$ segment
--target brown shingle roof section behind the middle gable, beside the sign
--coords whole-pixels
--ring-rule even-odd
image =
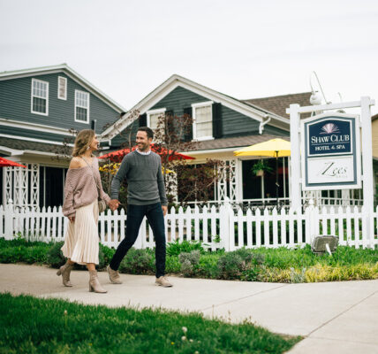
[[[289,108],[291,104],[299,104],[301,106],[310,105],[310,96],[311,92],[303,92],[301,94],[252,98],[240,101],[245,104],[257,105],[281,117],[290,118],[289,114],[286,114],[286,108]],[[303,117],[305,117],[305,115],[303,115]]]

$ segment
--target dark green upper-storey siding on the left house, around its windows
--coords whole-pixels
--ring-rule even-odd
[[[67,78],[67,100],[57,98],[57,77]],[[49,82],[49,115],[42,116],[31,112],[32,79]],[[91,127],[96,119],[96,133],[101,133],[107,123],[114,122],[119,114],[101,99],[89,94],[89,123],[74,121],[75,89],[87,92],[78,82],[64,73],[49,73],[19,79],[0,81],[0,118],[27,121],[44,126],[73,128],[76,130]]]

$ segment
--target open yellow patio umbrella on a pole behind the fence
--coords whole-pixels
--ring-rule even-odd
[[[235,156],[268,156],[276,158],[276,198],[278,204],[278,158],[291,155],[291,144],[283,139],[270,139],[234,151]],[[262,187],[261,187],[262,189]]]

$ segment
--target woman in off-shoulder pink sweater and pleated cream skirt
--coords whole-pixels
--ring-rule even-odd
[[[102,190],[97,158],[99,141],[93,130],[81,130],[76,137],[72,160],[64,186],[64,216],[70,219],[62,251],[67,262],[57,271],[65,287],[72,287],[70,273],[75,263],[89,271],[89,291],[106,293],[97,277],[98,199],[109,205],[110,197]]]

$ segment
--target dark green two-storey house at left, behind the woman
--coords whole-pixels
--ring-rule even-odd
[[[124,112],[66,64],[0,73],[0,156],[26,165],[0,168],[0,204],[63,204],[72,131],[100,135]]]

